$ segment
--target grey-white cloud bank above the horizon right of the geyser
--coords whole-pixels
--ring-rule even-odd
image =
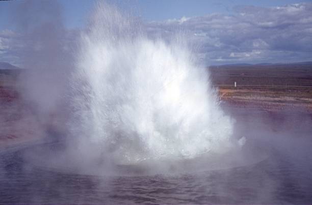
[[[311,13],[311,3],[272,8],[245,6],[237,8],[234,15],[211,14],[147,26],[150,31],[166,33],[165,37],[174,35],[177,28],[189,34],[190,42],[200,48],[199,53],[205,53],[207,63],[312,61]]]

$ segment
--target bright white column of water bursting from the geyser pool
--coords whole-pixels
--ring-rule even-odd
[[[98,4],[71,79],[71,135],[86,159],[194,158],[232,147],[232,121],[186,46]]]

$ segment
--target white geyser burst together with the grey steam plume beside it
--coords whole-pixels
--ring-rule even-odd
[[[72,35],[57,4],[18,9],[29,47],[21,55],[29,70],[20,80],[23,99],[43,131],[54,123],[51,130],[60,132],[50,137],[66,139],[64,153],[56,160],[41,155],[43,161],[78,169],[171,163],[245,143],[232,137],[234,121],[178,32],[166,42],[151,38],[136,18],[99,3],[87,28],[68,43]]]

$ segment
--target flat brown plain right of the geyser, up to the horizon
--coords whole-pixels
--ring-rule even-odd
[[[310,64],[219,66],[210,71],[220,99],[232,106],[312,113]]]

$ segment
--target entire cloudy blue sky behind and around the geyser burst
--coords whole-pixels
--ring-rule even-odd
[[[312,1],[109,2],[137,16],[150,34],[183,31],[206,65],[312,61]],[[0,62],[21,65],[32,24],[57,22],[66,32],[62,42],[70,41],[84,29],[94,1],[37,4],[0,2]]]

